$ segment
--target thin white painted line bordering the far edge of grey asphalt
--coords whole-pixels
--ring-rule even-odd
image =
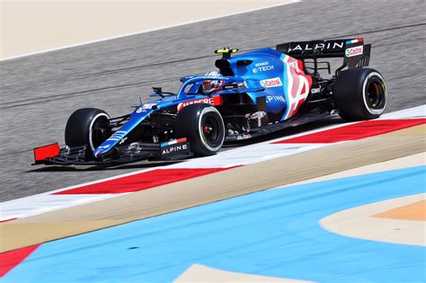
[[[58,50],[61,50],[61,49],[71,49],[71,48],[75,48],[75,47],[78,47],[78,46],[83,46],[83,45],[87,45],[87,44],[91,44],[91,43],[102,42],[102,41],[106,41],[106,40],[116,40],[116,39],[120,39],[120,38],[124,38],[124,37],[128,37],[128,36],[133,36],[133,35],[138,35],[138,34],[142,34],[142,33],[146,33],[146,32],[151,32],[151,31],[161,31],[161,30],[165,30],[165,29],[179,27],[179,26],[186,25],[186,24],[197,23],[197,22],[205,22],[205,21],[220,19],[220,18],[229,17],[229,16],[233,16],[233,15],[236,15],[236,14],[241,14],[241,13],[251,13],[251,12],[261,11],[261,10],[264,10],[264,9],[270,9],[270,8],[282,6],[282,5],[285,5],[285,4],[298,3],[300,1],[301,0],[285,0],[284,2],[282,2],[280,4],[271,4],[271,5],[262,7],[262,8],[244,10],[242,12],[236,12],[236,13],[227,13],[227,14],[224,14],[224,15],[215,16],[215,17],[208,17],[208,18],[204,18],[204,19],[201,19],[201,20],[197,20],[197,21],[182,22],[182,23],[173,24],[173,25],[167,25],[167,26],[164,26],[164,27],[150,29],[150,30],[146,30],[146,31],[137,31],[137,32],[131,32],[131,33],[126,33],[126,34],[121,34],[121,35],[117,35],[117,36],[113,36],[113,37],[103,38],[103,39],[100,39],[100,40],[90,40],[90,41],[85,41],[85,42],[81,42],[81,43],[76,43],[76,44],[71,44],[71,45],[63,46],[63,47],[56,48],[56,49],[45,49],[45,50],[41,50],[41,51],[37,51],[37,52],[31,52],[31,53],[26,53],[26,54],[22,54],[22,55],[18,55],[18,56],[5,57],[5,58],[1,58],[0,62],[1,61],[5,61],[5,60],[16,59],[16,58],[20,58],[20,57],[28,57],[28,56],[32,56],[32,55],[38,55],[38,54],[47,53],[47,52],[51,52],[51,51],[58,51]]]

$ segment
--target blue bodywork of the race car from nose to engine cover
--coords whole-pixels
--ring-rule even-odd
[[[177,106],[180,103],[191,102],[217,96],[233,95],[235,93],[246,93],[256,104],[257,98],[265,97],[268,113],[278,114],[279,119],[272,122],[283,121],[289,118],[291,106],[291,93],[288,84],[293,82],[295,77],[291,69],[297,65],[288,64],[289,59],[297,61],[292,57],[276,51],[275,49],[259,49],[247,52],[234,57],[222,58],[219,63],[225,66],[218,66],[221,75],[196,75],[182,78],[182,86],[176,95],[165,96],[161,99],[146,102],[138,106],[133,111],[129,120],[112,134],[101,146],[94,150],[96,157],[108,153],[111,148],[117,146],[133,128],[136,128],[142,121],[146,120],[153,112]],[[299,62],[299,61],[297,61]],[[300,74],[300,76],[306,76]],[[209,95],[197,93],[200,85],[205,80],[217,80],[224,84],[237,84],[234,89],[225,89]],[[291,81],[291,82],[289,82]],[[306,87],[306,95],[310,88],[310,81]],[[155,93],[154,93],[155,94]],[[282,115],[280,115],[280,113]]]

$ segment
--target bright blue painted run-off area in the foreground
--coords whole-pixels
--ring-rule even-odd
[[[424,181],[421,166],[226,199],[45,243],[3,281],[167,282],[200,263],[322,282],[423,282],[424,247],[332,234],[318,221],[422,193]]]

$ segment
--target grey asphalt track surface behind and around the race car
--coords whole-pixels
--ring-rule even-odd
[[[151,166],[37,169],[31,149],[63,145],[67,118],[78,108],[122,115],[139,96],[146,101],[151,86],[176,90],[180,76],[214,70],[213,50],[221,47],[244,51],[291,40],[364,37],[373,44],[370,66],[387,81],[387,111],[425,104],[424,6],[423,0],[303,1],[2,61],[0,201]]]

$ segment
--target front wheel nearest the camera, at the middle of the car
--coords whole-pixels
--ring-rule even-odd
[[[197,156],[215,155],[225,140],[225,125],[219,111],[210,104],[186,106],[174,125],[177,138],[186,137]]]

